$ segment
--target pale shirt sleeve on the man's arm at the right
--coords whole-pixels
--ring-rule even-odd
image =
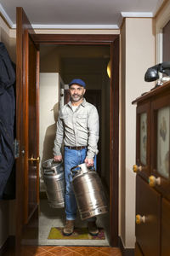
[[[87,158],[94,159],[98,154],[99,141],[99,114],[97,108],[92,108],[88,113],[88,153]]]

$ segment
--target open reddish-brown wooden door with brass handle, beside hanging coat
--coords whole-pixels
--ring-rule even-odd
[[[39,51],[30,21],[16,9],[16,255],[20,255],[23,230],[38,208],[39,192]]]

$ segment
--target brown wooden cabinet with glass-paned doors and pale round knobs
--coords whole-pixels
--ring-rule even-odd
[[[170,83],[137,103],[135,256],[170,256]]]

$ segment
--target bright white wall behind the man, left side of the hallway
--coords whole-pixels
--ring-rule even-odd
[[[40,73],[40,170],[42,162],[54,157],[54,137],[59,112],[60,83],[59,73]],[[40,177],[41,177],[40,172]],[[40,179],[40,189],[43,181]]]

